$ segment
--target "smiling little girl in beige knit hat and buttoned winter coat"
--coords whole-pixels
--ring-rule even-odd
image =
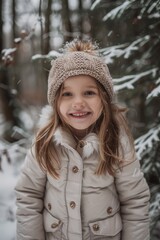
[[[17,194],[17,240],[149,240],[149,189],[96,46],[52,63]]]

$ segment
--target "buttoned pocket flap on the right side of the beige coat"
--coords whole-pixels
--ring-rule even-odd
[[[122,220],[119,213],[104,220],[92,222],[89,227],[94,235],[115,236],[122,230]]]

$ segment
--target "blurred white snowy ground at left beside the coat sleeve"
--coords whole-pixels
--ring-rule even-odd
[[[26,150],[0,142],[0,239],[15,240],[16,205],[14,188]]]

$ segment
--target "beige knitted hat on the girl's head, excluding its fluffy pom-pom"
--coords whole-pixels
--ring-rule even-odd
[[[113,98],[113,83],[107,65],[101,57],[85,51],[64,53],[52,61],[48,77],[48,102],[52,106],[61,84],[71,76],[89,75],[100,82],[106,90],[110,101]]]

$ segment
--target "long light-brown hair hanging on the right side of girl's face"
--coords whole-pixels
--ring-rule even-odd
[[[122,143],[122,138],[125,137],[125,142],[129,144],[131,158],[135,154],[134,141],[125,117],[127,108],[111,103],[103,86],[98,82],[97,85],[103,110],[94,127],[100,141],[100,160],[96,173],[105,174],[108,171],[114,176],[116,169],[123,165],[126,160],[124,158],[127,149],[124,149],[126,146]]]

